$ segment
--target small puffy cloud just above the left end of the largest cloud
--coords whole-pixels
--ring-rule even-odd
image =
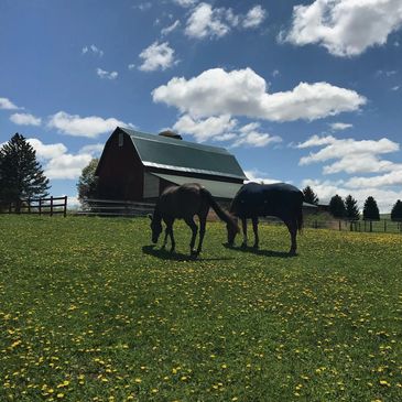
[[[169,46],[167,42],[154,42],[140,53],[143,63],[139,67],[143,72],[154,72],[156,69],[166,69],[174,65],[174,50]]]

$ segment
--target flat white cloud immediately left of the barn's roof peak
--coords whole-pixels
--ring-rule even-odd
[[[59,132],[75,137],[95,138],[106,132],[111,132],[116,127],[133,127],[131,123],[115,118],[102,119],[97,116],[80,117],[58,111],[50,117],[47,127]]]

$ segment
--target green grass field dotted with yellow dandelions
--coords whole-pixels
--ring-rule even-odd
[[[0,401],[402,401],[401,235],[175,235],[0,216]]]

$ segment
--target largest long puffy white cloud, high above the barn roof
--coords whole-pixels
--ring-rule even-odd
[[[265,80],[251,68],[205,70],[174,77],[152,91],[153,101],[177,107],[193,117],[247,116],[272,121],[315,120],[358,110],[366,98],[327,83],[300,83],[294,89],[269,94]]]

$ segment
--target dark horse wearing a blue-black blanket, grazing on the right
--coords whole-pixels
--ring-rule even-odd
[[[254,248],[259,246],[258,237],[258,217],[275,216],[284,221],[291,233],[291,254],[296,253],[296,235],[297,229],[303,227],[303,193],[285,183],[275,184],[245,184],[236,194],[231,205],[230,214],[241,219],[243,242],[247,247],[247,219],[252,220],[254,232]],[[236,232],[228,229],[228,243],[233,245]]]

